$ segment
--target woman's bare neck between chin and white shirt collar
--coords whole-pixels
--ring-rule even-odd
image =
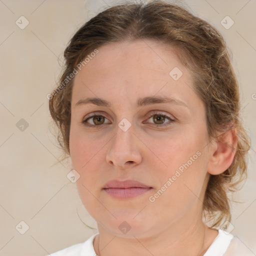
[[[182,225],[180,225],[182,223]],[[99,235],[93,246],[98,256],[201,256],[217,236],[217,230],[210,229],[201,220],[189,223],[180,219],[161,232],[153,235],[131,235],[129,238],[111,234],[98,224]]]

